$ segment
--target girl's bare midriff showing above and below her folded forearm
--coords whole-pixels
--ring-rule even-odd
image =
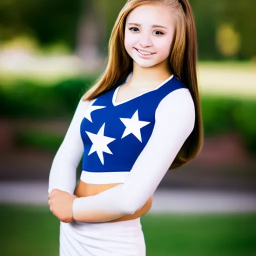
[[[121,184],[121,183],[89,184],[89,183],[85,183],[85,182],[79,180],[79,183],[75,189],[74,194],[78,197],[86,197],[86,196],[98,194],[104,190],[107,190],[107,189],[112,188],[119,184]],[[133,214],[124,215],[120,218],[110,220],[108,222],[123,221],[123,220],[141,217],[142,215],[144,215],[145,213],[147,213],[149,211],[151,205],[152,205],[152,196],[150,196],[148,198],[148,200],[145,202],[145,204],[140,209],[135,211]]]

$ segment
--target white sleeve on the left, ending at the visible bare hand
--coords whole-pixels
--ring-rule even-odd
[[[48,193],[54,188],[70,194],[74,193],[76,168],[83,154],[80,123],[89,102],[79,100],[64,139],[53,158],[49,173]]]

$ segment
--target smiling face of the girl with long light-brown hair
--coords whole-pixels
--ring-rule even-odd
[[[137,65],[151,67],[168,58],[174,31],[168,7],[140,5],[126,18],[124,47]]]

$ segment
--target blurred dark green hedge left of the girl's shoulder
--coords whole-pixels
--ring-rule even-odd
[[[18,80],[12,86],[0,84],[0,116],[48,118],[70,116],[92,77],[70,78],[56,85]]]

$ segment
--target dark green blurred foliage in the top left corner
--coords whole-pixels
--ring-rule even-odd
[[[19,34],[34,36],[41,45],[75,45],[82,0],[1,0],[0,41]]]

